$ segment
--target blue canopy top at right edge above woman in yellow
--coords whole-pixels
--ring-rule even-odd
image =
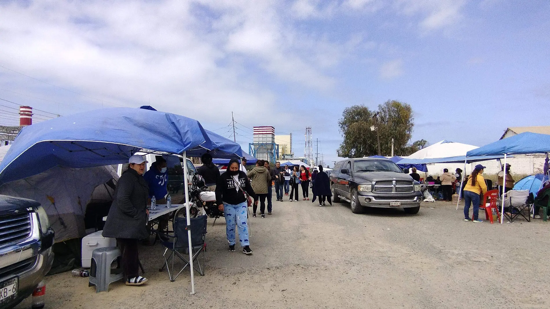
[[[497,154],[529,154],[550,152],[550,135],[524,132],[470,150],[466,157],[494,156]]]

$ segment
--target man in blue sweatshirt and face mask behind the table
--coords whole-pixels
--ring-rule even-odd
[[[166,168],[166,159],[163,157],[157,157],[157,160],[153,162],[151,168],[145,172],[143,175],[145,182],[149,185],[149,202],[151,202],[151,197],[155,196],[158,204],[166,204],[166,196],[168,195],[168,172]],[[168,227],[168,220],[170,219],[170,214],[164,214],[163,216],[158,217],[158,233],[163,233],[163,231]]]

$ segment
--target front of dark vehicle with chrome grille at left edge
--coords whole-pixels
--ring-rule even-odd
[[[53,230],[40,203],[0,195],[0,308],[32,294],[53,262]]]

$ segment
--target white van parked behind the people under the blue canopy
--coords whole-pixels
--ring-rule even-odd
[[[172,203],[179,204],[183,202],[185,196],[184,190],[184,180],[183,180],[183,157],[178,154],[167,154],[167,153],[145,153],[145,152],[136,152],[140,156],[145,156],[147,160],[145,166],[145,172],[151,168],[153,162],[157,161],[157,157],[163,157],[166,160],[166,167],[168,172],[168,194],[172,196]],[[124,170],[128,169],[128,163],[118,164],[117,174],[120,176]],[[191,184],[193,180],[193,175],[197,173],[197,169],[193,162],[188,158],[187,159],[187,172],[188,172],[188,183]]]

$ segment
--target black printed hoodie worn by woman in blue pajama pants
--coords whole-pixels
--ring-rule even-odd
[[[237,185],[240,187],[239,191],[235,189],[235,180],[232,175],[229,175],[227,172],[220,175],[216,184],[216,205],[223,203],[238,205],[245,202],[244,191],[254,198],[255,201],[258,199],[254,190],[252,190],[250,180],[248,180],[246,174],[241,170],[239,170],[239,184]]]

